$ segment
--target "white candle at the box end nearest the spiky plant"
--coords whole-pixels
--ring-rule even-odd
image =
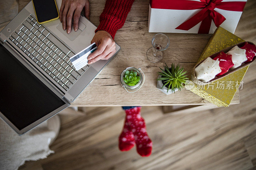
[[[219,60],[213,60],[211,57],[206,58],[195,68],[196,78],[203,82],[212,80],[221,72],[219,63]]]

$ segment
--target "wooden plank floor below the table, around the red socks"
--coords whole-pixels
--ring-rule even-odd
[[[153,152],[120,152],[121,107],[87,107],[87,115],[60,115],[61,129],[46,159],[20,169],[255,169],[256,63],[240,90],[240,104],[213,110],[164,115],[161,107],[142,107]]]

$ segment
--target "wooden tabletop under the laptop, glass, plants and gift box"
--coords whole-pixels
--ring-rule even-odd
[[[19,11],[28,2],[20,0]],[[256,12],[250,8],[252,4],[253,0],[248,0],[235,34],[256,43]],[[104,5],[105,0],[90,1],[90,20],[96,26]],[[149,1],[135,0],[124,26],[115,36],[116,43],[121,46],[120,52],[71,106],[212,105],[186,89],[165,95],[156,88],[156,72],[164,63],[180,63],[190,74],[211,34],[166,33],[171,44],[164,51],[161,62],[151,63],[146,52],[152,47],[151,39],[155,33],[148,33],[148,9]],[[144,85],[135,93],[127,93],[120,85],[120,74],[127,67],[141,67],[146,76]],[[239,103],[238,91],[231,101],[231,104],[236,103]]]

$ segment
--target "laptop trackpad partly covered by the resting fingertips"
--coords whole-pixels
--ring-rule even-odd
[[[72,23],[72,26],[71,26],[71,31],[70,33],[68,34],[67,33],[67,29],[66,30],[63,30],[62,28],[62,23],[60,22],[60,24],[57,26],[57,29],[63,33],[66,37],[68,37],[69,40],[71,41],[74,41],[76,39],[76,37],[85,29],[85,25],[80,21],[79,22],[79,25],[78,25],[78,29],[76,31],[74,31],[74,26],[73,26],[73,23]]]

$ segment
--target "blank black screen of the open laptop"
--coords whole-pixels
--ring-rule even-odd
[[[19,130],[65,104],[0,45],[0,112]]]

